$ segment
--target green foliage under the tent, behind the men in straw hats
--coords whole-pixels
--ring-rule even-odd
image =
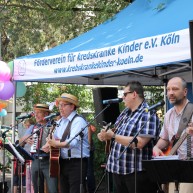
[[[78,97],[80,101],[79,113],[93,112],[92,90],[83,85],[73,84],[53,84],[53,83],[26,83],[26,94],[17,98],[17,105],[23,106],[24,112],[33,110],[33,105],[37,103],[55,102],[56,98],[64,92],[71,93]],[[56,109],[54,109],[56,110]]]

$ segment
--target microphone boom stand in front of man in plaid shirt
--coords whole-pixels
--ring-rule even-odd
[[[137,193],[137,143],[138,143],[138,139],[137,137],[139,136],[139,133],[142,131],[142,129],[144,128],[144,126],[147,124],[147,122],[149,122],[149,120],[151,119],[151,117],[156,113],[155,110],[153,110],[153,113],[150,115],[149,119],[141,126],[141,128],[137,131],[137,133],[133,136],[133,139],[129,142],[129,144],[124,148],[124,150],[121,152],[121,154],[119,155],[119,157],[117,158],[117,160],[119,160],[121,158],[121,156],[125,153],[125,151],[131,146],[132,143],[135,144],[135,148],[134,148],[134,160],[135,160],[135,193]]]

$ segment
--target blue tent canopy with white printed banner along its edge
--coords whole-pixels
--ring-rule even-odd
[[[192,0],[136,0],[71,41],[15,59],[14,80],[162,85],[178,74],[191,81],[192,7]]]

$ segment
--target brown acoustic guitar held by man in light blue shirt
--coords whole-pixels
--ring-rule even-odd
[[[50,132],[50,139],[52,139],[52,134],[55,129],[53,126]],[[55,148],[50,146],[50,177],[58,177],[60,171],[59,165],[59,157],[60,157],[60,148]]]

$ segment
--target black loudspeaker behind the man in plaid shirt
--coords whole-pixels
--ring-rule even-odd
[[[107,123],[112,122],[112,124],[115,123],[117,117],[120,114],[118,103],[110,104],[110,106],[101,113],[101,111],[107,106],[103,105],[103,100],[114,98],[118,98],[117,88],[104,87],[93,89],[95,116],[99,114],[96,118],[97,124],[103,125],[103,121]]]

